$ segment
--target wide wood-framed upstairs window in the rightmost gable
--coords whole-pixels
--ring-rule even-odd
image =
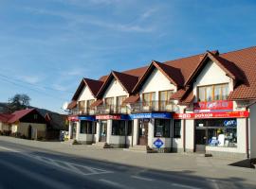
[[[229,95],[229,84],[198,87],[198,101],[226,100]]]

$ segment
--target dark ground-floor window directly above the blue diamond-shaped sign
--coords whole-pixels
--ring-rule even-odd
[[[155,119],[155,137],[170,137],[170,119]]]

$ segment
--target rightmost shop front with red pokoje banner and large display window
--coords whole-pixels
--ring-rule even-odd
[[[218,156],[244,158],[247,156],[247,117],[249,112],[197,112],[174,113],[174,119],[193,123],[193,130],[186,124],[186,146],[194,152]],[[192,143],[192,144],[191,144]]]

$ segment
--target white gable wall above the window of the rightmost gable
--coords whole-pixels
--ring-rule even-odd
[[[233,80],[213,61],[209,61],[193,83],[193,94],[196,95],[196,86],[229,83],[229,92],[233,91]]]

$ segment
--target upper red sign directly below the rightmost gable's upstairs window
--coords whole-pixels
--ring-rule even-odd
[[[197,102],[193,104],[193,112],[232,112],[233,101],[216,100],[212,102]]]

